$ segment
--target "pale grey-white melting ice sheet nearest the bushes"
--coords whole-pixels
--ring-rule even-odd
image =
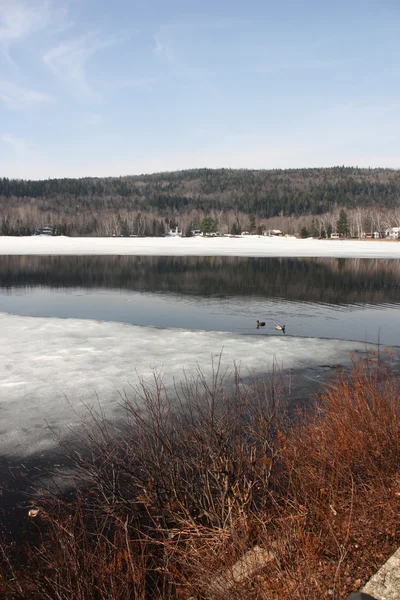
[[[118,392],[129,392],[138,376],[162,371],[166,385],[195,374],[211,378],[211,357],[223,350],[233,362],[266,373],[274,358],[282,368],[346,364],[365,344],[312,338],[235,335],[168,330],[77,319],[44,319],[0,313],[0,454],[25,456],[54,446],[50,427],[61,434],[86,413],[82,401],[96,393],[110,417],[121,414]],[[67,401],[68,398],[68,401]]]

